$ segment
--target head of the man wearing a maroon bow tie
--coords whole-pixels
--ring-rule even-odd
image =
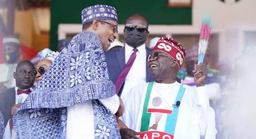
[[[23,61],[21,64],[19,63],[16,72],[13,74],[18,88],[28,89],[33,86],[35,76],[32,73],[34,69],[34,65],[29,63],[29,61]]]

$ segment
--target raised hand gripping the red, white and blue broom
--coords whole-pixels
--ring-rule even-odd
[[[206,69],[206,65],[204,63],[200,63],[199,65],[194,66],[194,81],[196,87],[204,86],[204,82],[207,78],[208,71]]]

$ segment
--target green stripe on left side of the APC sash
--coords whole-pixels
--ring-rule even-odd
[[[144,105],[143,105],[143,113],[142,113],[141,124],[140,124],[140,132],[148,131],[151,113],[147,113],[147,105],[148,105],[148,101],[150,98],[150,93],[152,90],[153,83],[154,83],[153,81],[148,83],[146,97],[145,97],[145,101],[144,101]]]

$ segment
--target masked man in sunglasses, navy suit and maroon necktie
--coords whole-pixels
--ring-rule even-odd
[[[126,20],[124,28],[125,46],[105,53],[109,77],[121,98],[134,86],[153,81],[146,61],[151,53],[151,49],[145,46],[148,36],[146,18],[139,14],[132,15]]]

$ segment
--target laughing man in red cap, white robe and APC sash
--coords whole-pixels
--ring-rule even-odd
[[[196,88],[176,81],[185,55],[185,48],[172,38],[158,40],[148,57],[155,82],[136,86],[123,98],[125,111],[121,120],[130,128],[120,130],[123,139],[215,138],[215,129],[207,128],[208,123],[214,122],[214,113],[204,87],[205,64],[195,66],[193,71]]]

